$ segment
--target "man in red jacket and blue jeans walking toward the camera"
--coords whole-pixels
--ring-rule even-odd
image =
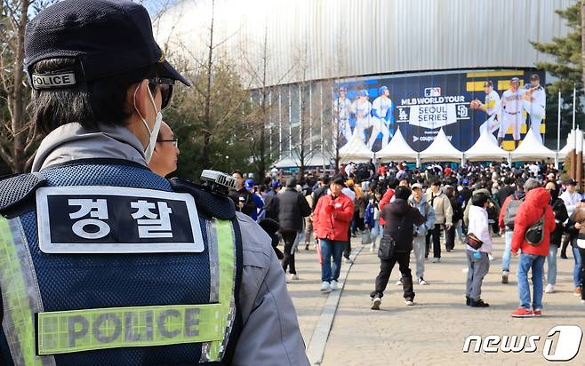
[[[349,224],[354,216],[353,200],[341,193],[344,186],[342,177],[333,179],[331,194],[319,199],[313,211],[313,230],[321,246],[321,290],[324,292],[337,290],[341,255],[349,240]]]

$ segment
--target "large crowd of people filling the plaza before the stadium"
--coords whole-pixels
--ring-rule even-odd
[[[554,165],[540,162],[516,166],[466,163],[457,168],[432,163],[425,169],[410,169],[406,163],[376,166],[371,161],[341,166],[333,178],[289,178],[284,187],[272,171],[262,184],[246,181],[243,187],[243,175],[235,171],[240,190],[233,192],[232,199],[241,211],[246,210],[246,203],[257,200],[255,210],[246,213],[260,222],[270,220],[275,234],[280,227],[287,281],[299,278],[294,252],[303,244],[309,250],[315,243],[323,292],[338,290],[342,259],[351,260],[352,237],[360,238],[370,251],[378,250],[381,268],[370,294],[374,310],[381,306],[396,264],[400,271],[397,285],[403,286],[405,304],[413,305],[413,282],[429,283],[425,264],[430,253],[432,262],[440,263],[442,243],[445,251],[453,251],[456,242],[465,249],[468,262],[466,304],[489,306],[481,298],[482,282],[494,259],[493,238],[502,235],[502,283],[509,283],[511,258],[519,256],[520,306],[511,315],[540,316],[543,292],[555,291],[558,249],[560,257],[567,259],[569,244],[574,295],[585,303],[585,267],[581,262],[585,255],[585,197],[577,191],[577,182],[562,181],[561,174]],[[254,195],[257,198],[252,198]],[[276,248],[278,236],[275,239]]]

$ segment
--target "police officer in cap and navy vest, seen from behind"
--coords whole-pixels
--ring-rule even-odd
[[[146,10],[65,0],[25,48],[47,136],[33,173],[0,180],[0,364],[309,364],[268,235],[148,170],[188,83]]]

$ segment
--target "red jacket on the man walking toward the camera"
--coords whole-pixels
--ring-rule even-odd
[[[330,211],[331,213],[327,212]],[[324,195],[313,211],[313,231],[318,239],[349,240],[349,223],[354,217],[354,202],[347,195]]]

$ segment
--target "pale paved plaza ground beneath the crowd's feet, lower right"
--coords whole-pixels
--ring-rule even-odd
[[[585,305],[573,296],[573,258],[558,258],[556,292],[544,294],[541,318],[514,319],[509,313],[517,308],[516,275],[510,283],[501,283],[503,239],[496,238],[490,273],[485,277],[482,298],[489,308],[465,306],[467,267],[461,244],[453,252],[443,252],[441,263],[427,262],[425,278],[428,286],[416,283],[414,306],[405,306],[402,287],[395,267],[389,287],[382,298],[381,310],[370,309],[369,293],[379,271],[379,259],[367,247],[360,248],[351,267],[342,265],[341,276],[348,277],[340,293],[322,294],[317,252],[301,247],[297,254],[299,281],[289,283],[289,290],[299,315],[301,332],[308,346],[312,364],[336,365],[540,365],[548,362],[542,355],[547,334],[557,325],[577,325],[585,330]],[[432,254],[431,254],[432,256]],[[413,268],[413,260],[411,260]],[[511,271],[516,273],[517,259]],[[545,265],[546,272],[546,265]],[[413,268],[414,273],[414,268]],[[333,297],[333,298],[332,298]],[[337,297],[339,303],[337,304]],[[335,307],[337,306],[337,307]],[[329,331],[329,323],[331,330]],[[462,351],[465,339],[479,336],[537,335],[533,353],[497,353]],[[557,336],[553,339],[556,349]],[[475,342],[472,343],[473,350]],[[551,352],[550,354],[554,354]],[[322,360],[321,360],[322,356]],[[565,365],[585,364],[585,346]]]

